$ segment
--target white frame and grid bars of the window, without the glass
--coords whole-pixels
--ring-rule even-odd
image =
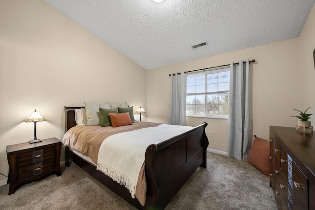
[[[215,92],[208,92],[208,83],[207,83],[207,74],[212,74],[212,73],[220,73],[220,72],[230,72],[230,66],[228,67],[218,67],[215,69],[211,69],[211,70],[206,70],[206,71],[202,71],[202,72],[196,72],[196,73],[190,73],[187,75],[187,78],[189,76],[198,76],[198,75],[205,75],[205,92],[200,92],[200,93],[186,93],[186,97],[189,95],[204,95],[205,96],[205,114],[203,115],[198,115],[198,114],[187,114],[186,113],[186,117],[197,117],[197,118],[215,118],[215,119],[228,119],[228,115],[208,115],[206,113],[208,113],[208,95],[210,94],[221,94],[221,93],[228,93],[230,92],[230,88],[228,90],[224,90],[224,91],[215,91]],[[230,78],[230,75],[229,75]],[[230,83],[230,82],[229,82]],[[217,83],[220,84],[220,83]],[[196,86],[196,84],[195,84]],[[187,86],[186,86],[187,88]],[[186,106],[187,106],[187,101],[186,101]],[[186,108],[187,109],[187,108]]]

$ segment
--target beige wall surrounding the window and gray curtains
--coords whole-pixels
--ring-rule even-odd
[[[268,140],[269,125],[295,126],[296,120],[289,116],[297,106],[297,41],[297,38],[287,39],[148,71],[147,102],[159,104],[148,105],[148,120],[168,122],[168,74],[255,59],[251,64],[253,134]],[[228,120],[187,117],[187,125],[191,126],[204,121],[208,122],[207,134],[213,131],[213,137],[208,135],[208,148],[226,153]]]

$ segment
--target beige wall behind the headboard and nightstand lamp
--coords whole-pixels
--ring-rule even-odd
[[[37,137],[62,139],[64,106],[144,106],[145,69],[42,0],[0,5],[0,173],[8,174],[6,146],[32,140],[23,120],[34,109],[47,120]]]

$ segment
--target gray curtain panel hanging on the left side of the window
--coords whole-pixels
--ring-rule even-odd
[[[169,124],[186,125],[187,74],[171,75]]]

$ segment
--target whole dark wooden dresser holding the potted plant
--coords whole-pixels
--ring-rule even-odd
[[[278,210],[315,210],[315,132],[270,126],[270,185]]]

